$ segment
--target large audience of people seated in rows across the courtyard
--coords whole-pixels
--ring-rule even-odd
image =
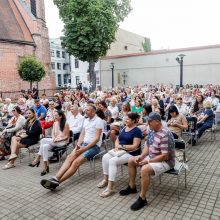
[[[104,178],[98,187],[107,187],[100,194],[107,197],[114,192],[117,166],[128,163],[129,169],[134,171],[147,156],[146,150],[141,157],[134,159],[141,154],[139,150],[142,138],[145,138],[148,148],[151,149],[152,143],[149,142],[151,130],[159,132],[158,128],[167,129],[172,132],[174,138],[182,139],[183,132],[189,127],[188,119],[193,117],[197,121],[197,135],[193,136],[189,143],[195,145],[204,131],[213,126],[215,112],[220,112],[219,98],[220,86],[186,85],[183,88],[175,88],[172,84],[113,90],[96,89],[92,93],[67,90],[56,93],[53,101],[49,100],[46,94],[42,94],[41,99],[38,99],[31,92],[26,96],[19,96],[14,104],[11,99],[5,98],[0,100],[2,126],[0,160],[10,155],[9,162],[3,169],[13,168],[19,149],[40,141],[39,152],[30,166],[39,166],[42,157],[44,163],[41,175],[46,175],[49,173],[49,162],[58,160],[56,152],[49,157],[49,150],[54,146],[65,145],[72,131],[74,141],[77,143],[76,148],[54,177],[41,182],[45,188],[54,190],[72,176],[81,164],[99,153],[103,137],[108,138],[116,151],[123,149],[126,152],[119,158],[107,153],[102,159]],[[52,132],[47,137],[46,130],[49,128]],[[167,131],[164,131],[165,133],[167,135]],[[10,134],[7,137],[8,147],[4,143],[5,134]],[[158,155],[150,155],[151,158],[154,156]],[[168,160],[167,150],[166,156],[161,158]],[[148,167],[146,172],[152,174],[152,169]],[[129,187],[122,194],[135,191],[132,191],[134,182],[131,182]],[[143,194],[141,199],[139,198],[137,203],[145,205]]]

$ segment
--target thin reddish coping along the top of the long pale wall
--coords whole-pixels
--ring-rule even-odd
[[[157,54],[166,54],[166,53],[177,53],[177,52],[183,52],[183,51],[206,50],[206,49],[215,49],[215,48],[220,48],[220,44],[178,48],[178,49],[154,50],[151,52],[140,52],[140,53],[106,56],[106,57],[102,57],[101,60],[109,60],[109,59],[117,59],[117,58],[120,59],[120,58],[125,58],[125,57],[137,57],[137,56],[157,55]]]

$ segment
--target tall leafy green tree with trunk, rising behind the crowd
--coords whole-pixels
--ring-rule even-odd
[[[96,87],[95,62],[105,56],[119,23],[131,11],[130,0],[54,0],[64,22],[62,45],[70,55],[89,62]]]

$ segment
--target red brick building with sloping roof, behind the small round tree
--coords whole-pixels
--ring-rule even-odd
[[[44,0],[0,0],[0,91],[29,88],[17,71],[24,55],[35,55],[45,65],[47,74],[39,89],[55,88]]]

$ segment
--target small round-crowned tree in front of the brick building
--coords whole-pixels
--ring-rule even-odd
[[[32,89],[33,82],[39,82],[45,76],[44,65],[34,56],[24,56],[18,64],[18,73],[24,81],[30,82]]]

